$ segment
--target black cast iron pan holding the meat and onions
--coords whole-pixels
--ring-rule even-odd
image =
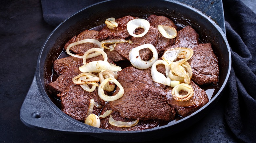
[[[208,3],[201,7],[207,11],[213,9],[214,3]],[[213,1],[221,5],[220,0]],[[213,5],[213,6],[211,6]],[[223,11],[212,11],[212,13]],[[200,35],[203,42],[210,42],[219,59],[219,89],[214,97],[195,113],[188,117],[171,122],[167,125],[142,131],[113,131],[95,128],[63,113],[56,105],[55,100],[46,90],[46,84],[51,81],[53,61],[59,56],[64,44],[74,35],[85,29],[90,29],[100,24],[109,17],[120,18],[126,15],[144,18],[147,15],[156,14],[167,16],[175,23],[192,26]],[[228,42],[223,30],[224,18],[216,20],[222,27],[209,16],[190,6],[173,0],[130,0],[128,1],[104,1],[89,6],[75,13],[63,23],[59,24],[45,41],[38,57],[37,67],[32,85],[20,109],[20,119],[32,128],[51,129],[72,134],[92,135],[98,138],[119,141],[138,142],[158,139],[172,133],[177,133],[201,119],[216,104],[226,86],[230,73],[231,56]]]

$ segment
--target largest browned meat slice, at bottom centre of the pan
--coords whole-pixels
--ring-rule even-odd
[[[166,103],[166,92],[154,84],[148,73],[131,66],[119,71],[117,80],[124,88],[124,94],[110,102],[110,106],[123,118],[160,121],[174,119],[175,111]],[[119,88],[115,93],[118,91]]]

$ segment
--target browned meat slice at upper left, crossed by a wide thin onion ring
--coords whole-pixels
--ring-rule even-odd
[[[69,40],[65,47],[64,50],[67,49],[69,44],[75,43],[77,41],[81,41],[84,39],[96,39],[96,36],[98,35],[98,31],[95,30],[85,30],[82,33],[78,34],[77,36],[74,36],[71,40]],[[91,48],[97,48],[98,46],[96,44],[93,43],[83,43],[77,46],[74,46],[72,48],[70,48],[70,51],[73,51],[75,54],[79,54],[79,53],[85,53],[87,50],[91,49]]]

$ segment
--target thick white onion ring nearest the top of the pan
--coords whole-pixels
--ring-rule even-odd
[[[134,34],[133,32],[136,30],[136,28],[139,28],[139,27],[143,28],[144,32],[141,34]],[[142,37],[146,35],[148,33],[149,27],[150,27],[149,22],[141,18],[130,20],[126,25],[127,31],[133,37]]]

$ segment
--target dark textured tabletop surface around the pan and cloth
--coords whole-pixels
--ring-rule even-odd
[[[244,3],[255,10],[255,1]],[[40,0],[1,1],[0,142],[110,142],[89,135],[36,130],[21,122],[20,107],[32,83],[39,51],[53,29],[43,19]],[[227,94],[224,93],[199,122],[182,133],[158,141],[240,142],[225,122],[226,103]]]

